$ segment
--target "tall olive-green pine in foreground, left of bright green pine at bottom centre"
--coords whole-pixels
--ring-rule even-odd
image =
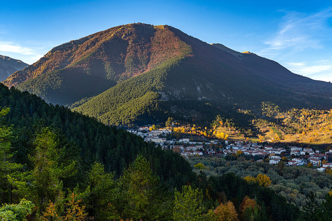
[[[164,220],[170,215],[167,189],[160,184],[150,163],[138,157],[120,178],[122,218],[134,220]]]

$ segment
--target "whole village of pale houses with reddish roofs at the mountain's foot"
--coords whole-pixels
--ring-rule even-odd
[[[141,136],[146,142],[154,142],[163,150],[172,150],[182,157],[225,157],[227,155],[239,155],[253,157],[257,162],[278,164],[283,162],[286,166],[316,167],[317,171],[325,171],[332,168],[332,149],[325,153],[319,150],[305,147],[277,147],[270,146],[270,142],[258,144],[249,141],[231,141],[207,139],[199,137],[200,141],[194,141],[186,137],[180,139],[167,139],[172,130],[169,128],[157,128],[154,125],[127,129],[128,132]],[[266,145],[267,143],[267,145]]]

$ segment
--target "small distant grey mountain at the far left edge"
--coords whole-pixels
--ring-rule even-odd
[[[23,70],[23,68],[27,66],[28,64],[21,60],[0,55],[0,81],[6,80],[9,75],[16,71]]]

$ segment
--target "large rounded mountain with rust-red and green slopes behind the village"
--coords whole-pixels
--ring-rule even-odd
[[[332,84],[207,44],[167,25],[128,24],[62,44],[4,84],[106,124],[209,121],[225,107],[332,108]]]

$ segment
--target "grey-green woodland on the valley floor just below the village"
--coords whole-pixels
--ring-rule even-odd
[[[321,203],[332,187],[331,175],[309,168],[278,168],[266,162],[243,161],[243,157],[231,161],[222,158],[196,157],[189,158],[189,162],[193,167],[198,163],[202,163],[204,166],[202,171],[207,176],[218,176],[232,172],[244,178],[246,176],[257,177],[258,174],[265,174],[270,177],[272,182],[269,189],[284,196],[289,202],[295,203],[298,207],[305,205],[306,197],[310,191],[316,193],[316,199],[318,203]],[[200,172],[197,169],[194,171]]]

